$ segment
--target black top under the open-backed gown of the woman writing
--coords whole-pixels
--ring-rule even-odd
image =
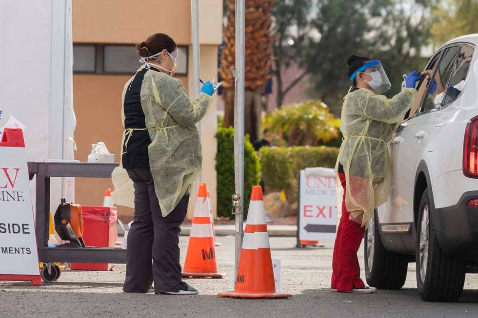
[[[146,128],[144,112],[141,108],[141,85],[144,75],[148,70],[157,71],[155,68],[143,68],[139,71],[131,81],[124,94],[124,127],[128,128]],[[159,72],[159,71],[157,71]],[[125,132],[126,133],[126,132]],[[128,140],[128,135],[125,136],[125,143]],[[149,169],[149,155],[148,146],[151,144],[151,138],[147,130],[133,131],[128,140],[127,149],[122,145],[123,168],[148,168]],[[125,153],[126,152],[126,153]]]

